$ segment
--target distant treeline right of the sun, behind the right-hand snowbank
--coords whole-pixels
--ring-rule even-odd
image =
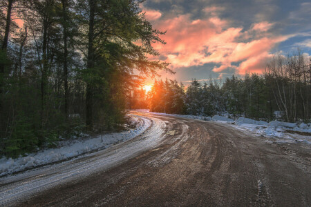
[[[275,55],[263,75],[232,76],[200,83],[185,89],[176,81],[156,81],[149,94],[134,108],[147,106],[153,112],[213,116],[229,113],[232,118],[307,121],[311,118],[311,59],[300,50],[292,55]],[[142,101],[144,100],[144,101]]]

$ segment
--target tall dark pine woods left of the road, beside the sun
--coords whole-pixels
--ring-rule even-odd
[[[1,1],[2,155],[53,146],[83,128],[116,129],[139,75],[171,72],[147,59],[159,55],[151,43],[164,43],[164,32],[144,19],[141,2]]]

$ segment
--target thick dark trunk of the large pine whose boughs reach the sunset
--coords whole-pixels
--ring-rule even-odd
[[[88,6],[90,7],[90,19],[88,22],[88,58],[87,58],[87,70],[94,68],[94,16],[95,16],[95,0],[88,0]],[[86,84],[86,126],[88,130],[93,128],[93,91],[90,83]]]

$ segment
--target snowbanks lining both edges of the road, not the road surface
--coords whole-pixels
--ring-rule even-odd
[[[138,111],[149,112],[149,110]],[[234,121],[233,119],[221,117],[218,115],[215,115],[211,118],[192,115],[171,115],[157,112],[149,113],[153,115],[167,115],[204,121],[218,121],[221,123],[233,123]],[[139,117],[136,115],[131,115],[131,117],[132,121],[136,124],[136,128],[133,130],[106,134],[91,139],[75,139],[73,141],[62,141],[59,143],[59,146],[62,146],[60,148],[41,150],[37,153],[32,153],[26,157],[19,157],[17,159],[3,157],[2,159],[0,159],[0,176],[11,174],[13,172],[19,172],[21,170],[33,168],[35,166],[51,164],[56,161],[63,161],[66,159],[77,157],[79,155],[84,155],[85,153],[92,152],[94,150],[109,148],[109,146],[113,146],[114,144],[132,139],[133,137],[140,135],[151,125],[151,120],[145,117]],[[292,130],[296,132],[311,133],[310,124],[301,123],[297,125],[296,123],[288,123],[282,121],[270,121],[270,123],[267,123],[265,121],[256,121],[243,117],[238,118],[234,123],[235,125],[230,124],[230,126],[241,130],[247,130],[257,136],[274,137],[279,142],[296,141],[305,144],[311,143],[310,136],[302,136],[296,134],[293,135],[285,132],[285,130]]]

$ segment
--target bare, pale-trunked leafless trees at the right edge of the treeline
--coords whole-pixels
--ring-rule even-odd
[[[286,121],[310,119],[310,60],[302,52],[293,55],[275,55],[265,72],[265,79],[273,92],[279,111]]]

